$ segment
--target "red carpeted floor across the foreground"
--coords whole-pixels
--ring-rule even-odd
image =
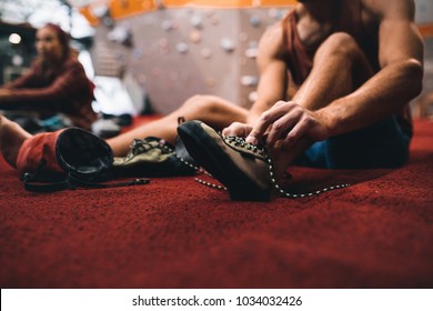
[[[399,170],[296,168],[319,197],[232,202],[193,178],[26,192],[0,159],[1,288],[432,288],[433,123]]]

